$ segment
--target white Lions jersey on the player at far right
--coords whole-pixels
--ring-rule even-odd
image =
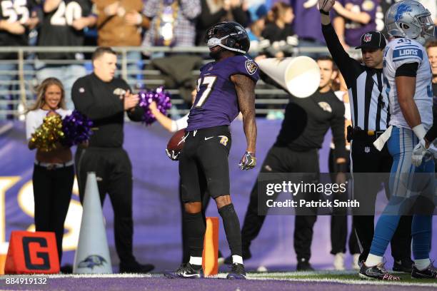
[[[433,89],[431,66],[425,48],[414,39],[393,39],[384,51],[383,92],[388,95],[390,101],[391,126],[410,128],[398,103],[398,93],[396,89],[395,75],[396,70],[404,63],[418,63],[416,76],[416,93],[414,102],[421,116],[423,126],[428,131],[433,124]]]

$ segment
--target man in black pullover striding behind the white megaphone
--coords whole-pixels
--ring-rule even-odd
[[[336,78],[334,63],[330,57],[318,58],[317,63],[321,71],[318,91],[307,98],[291,96],[290,102],[286,106],[281,131],[276,138],[276,143],[273,144],[263,161],[261,173],[314,173],[313,177],[309,178],[315,179],[306,182],[316,183],[320,171],[318,168],[318,149],[322,147],[323,138],[330,127],[336,146],[335,168],[338,169],[337,172],[346,170],[344,106],[331,90],[332,81]],[[265,76],[263,81],[272,82]],[[345,178],[343,174],[343,180]],[[301,197],[299,195],[304,194],[310,193],[298,193],[297,200]],[[264,207],[264,205],[260,205],[260,207]],[[241,230],[244,260],[251,257],[249,247],[252,240],[258,236],[265,219],[266,215],[258,215],[258,183],[255,183]],[[299,215],[296,213],[294,250],[298,261],[297,270],[313,270],[309,260],[313,225],[316,223],[316,219],[315,214]],[[231,262],[230,257],[226,258],[225,262]]]

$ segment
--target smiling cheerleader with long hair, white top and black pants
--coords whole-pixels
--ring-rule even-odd
[[[66,110],[64,86],[57,78],[46,78],[37,89],[34,106],[26,113],[26,139],[29,149],[36,145],[31,135],[43,123],[46,116],[71,114]],[[36,231],[49,231],[56,235],[59,263],[62,257],[64,221],[71,199],[74,181],[74,161],[69,147],[56,143],[56,148],[43,151],[36,148],[34,175],[35,227]]]

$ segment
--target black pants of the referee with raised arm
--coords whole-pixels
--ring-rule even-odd
[[[391,171],[393,158],[388,153],[387,146],[378,151],[373,146],[376,138],[353,138],[351,143],[351,168],[352,173],[385,173],[381,180],[376,180],[375,175],[353,175],[354,198],[358,198],[362,209],[374,209],[376,195],[381,189],[381,183],[388,191],[388,175]],[[365,193],[360,190],[365,189]],[[363,193],[363,194],[357,194]],[[391,255],[395,260],[411,257],[411,215],[401,217],[398,228],[391,239]],[[373,215],[353,215],[358,242],[362,247],[360,261],[366,260],[372,244],[374,233]]]

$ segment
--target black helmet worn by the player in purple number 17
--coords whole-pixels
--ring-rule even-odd
[[[232,21],[223,21],[208,29],[205,42],[209,48],[221,46],[241,54],[247,53],[251,45],[243,26]]]

